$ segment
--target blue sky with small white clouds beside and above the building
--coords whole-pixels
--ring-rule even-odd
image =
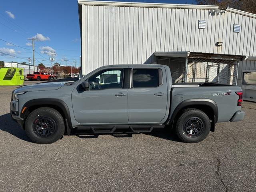
[[[128,1],[128,0],[118,0]],[[22,3],[21,3],[22,2]],[[131,2],[131,1],[129,1]],[[188,4],[193,0],[132,0],[132,2],[159,2]],[[80,65],[80,29],[77,0],[5,0],[0,6],[0,60],[27,62],[32,58],[31,41],[36,37],[35,64],[50,66],[48,51],[55,51],[56,62]],[[10,42],[8,44],[4,41]],[[19,47],[18,47],[19,46]],[[7,55],[9,54],[9,55]]]

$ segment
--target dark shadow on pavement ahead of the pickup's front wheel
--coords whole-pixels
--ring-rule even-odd
[[[8,132],[24,141],[31,142],[31,140],[26,136],[25,131],[20,127],[20,125],[12,120],[10,113],[0,116],[0,124],[0,130]]]

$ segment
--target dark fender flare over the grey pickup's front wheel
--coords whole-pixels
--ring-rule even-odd
[[[26,102],[21,109],[23,109],[24,107],[26,107],[26,110],[20,114],[21,118],[24,118],[24,115],[26,114],[26,111],[32,107],[32,106],[36,106],[36,105],[40,105],[40,106],[44,106],[44,105],[53,105],[53,106],[57,106],[58,108],[60,108],[62,110],[62,112],[64,113],[64,122],[65,122],[65,118],[67,119],[67,126],[68,128],[72,127],[72,123],[71,123],[71,117],[70,117],[70,112],[68,109],[67,104],[60,100],[60,99],[55,99],[55,98],[45,98],[45,99],[32,99],[28,102]]]

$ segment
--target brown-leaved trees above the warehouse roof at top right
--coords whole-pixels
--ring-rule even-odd
[[[256,14],[255,0],[196,0],[199,5],[218,5],[224,9],[226,7]]]

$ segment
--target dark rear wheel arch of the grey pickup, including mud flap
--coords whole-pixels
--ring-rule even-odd
[[[178,116],[183,112],[183,110],[188,108],[196,108],[202,110],[209,117],[211,122],[211,131],[215,129],[215,123],[218,121],[218,106],[216,102],[211,99],[188,99],[182,101],[169,115],[168,123],[175,122]]]

